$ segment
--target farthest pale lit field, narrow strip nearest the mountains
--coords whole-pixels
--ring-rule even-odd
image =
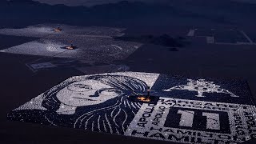
[[[62,31],[54,32],[56,28]],[[104,26],[68,26],[58,24],[39,24],[35,26],[27,26],[20,29],[0,29],[0,34],[14,35],[23,37],[44,38],[48,35],[76,34],[88,35],[91,37],[111,38],[123,35],[124,28],[104,27]]]

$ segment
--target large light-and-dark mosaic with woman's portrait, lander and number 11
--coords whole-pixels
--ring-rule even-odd
[[[158,102],[133,102],[134,95]],[[74,76],[7,114],[10,120],[182,143],[256,137],[256,108],[242,80],[137,72]]]

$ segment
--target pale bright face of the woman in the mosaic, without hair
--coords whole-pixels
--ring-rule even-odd
[[[71,83],[59,90],[56,94],[58,100],[67,106],[90,106],[106,102],[118,97],[122,90],[106,85],[98,80],[86,79]]]

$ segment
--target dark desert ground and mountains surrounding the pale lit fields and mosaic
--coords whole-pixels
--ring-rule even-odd
[[[172,51],[168,43],[162,42],[162,39],[158,40],[163,34],[177,39],[186,37],[186,33],[191,28],[214,28],[244,30],[256,42],[255,2],[254,0],[97,2],[1,0],[0,28],[22,28],[40,23],[125,27],[126,34],[133,38],[128,37],[124,40],[146,42],[146,45],[131,54],[129,58],[115,63],[130,66],[131,71],[242,79],[248,82],[251,93],[255,96],[255,45],[207,45],[201,38],[186,38],[187,41],[182,43],[178,51]],[[149,34],[154,35],[157,40],[148,42],[143,39],[142,35]],[[0,35],[0,50],[34,39]],[[175,43],[175,46],[179,45]],[[83,74],[70,67],[42,70],[33,74],[24,64],[33,58],[41,57],[0,53],[2,99],[0,143],[170,143],[6,120],[6,114],[10,110],[21,106],[70,76]]]

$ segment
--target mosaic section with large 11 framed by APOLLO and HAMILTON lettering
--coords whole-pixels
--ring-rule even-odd
[[[255,138],[255,112],[249,105],[160,98],[157,104],[142,105],[125,135],[182,143],[240,143]]]

